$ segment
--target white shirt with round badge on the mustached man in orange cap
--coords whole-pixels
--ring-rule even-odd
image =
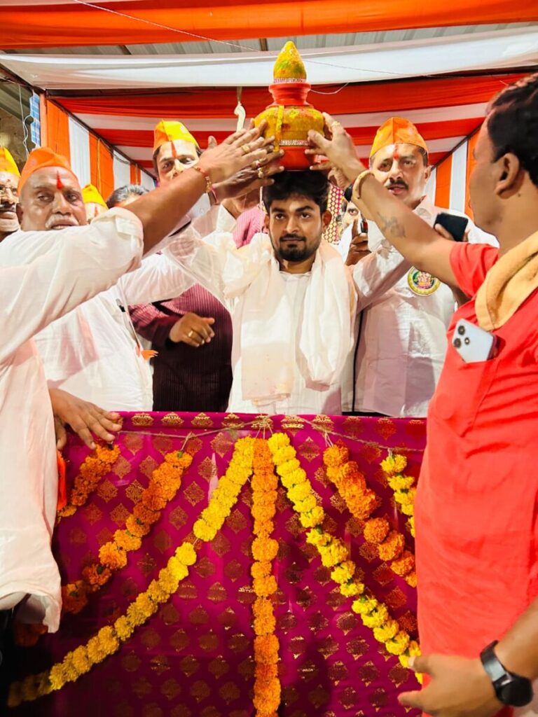
[[[433,225],[440,209],[425,198],[415,212]],[[448,210],[451,214],[459,214]],[[386,247],[400,256],[374,222],[369,222],[372,252]],[[494,242],[469,223],[470,242]],[[357,269],[362,262],[357,264]],[[407,265],[405,275],[362,313],[353,407],[353,356],[344,373],[344,411],[394,417],[424,417],[446,352],[446,331],[455,309],[452,290]],[[359,322],[360,323],[360,322]]]

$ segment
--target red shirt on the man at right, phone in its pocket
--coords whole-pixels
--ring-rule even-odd
[[[455,244],[450,263],[468,296],[498,258],[494,247]],[[450,343],[461,318],[478,323],[474,299],[450,323],[428,412],[418,625],[424,653],[478,657],[538,595],[538,293],[494,332],[489,361],[466,364]]]

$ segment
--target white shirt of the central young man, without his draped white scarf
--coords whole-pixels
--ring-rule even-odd
[[[196,222],[184,232],[183,241],[176,242],[173,247],[167,247],[164,253],[171,255],[181,263],[185,269],[192,274],[194,279],[204,285],[207,290],[213,293],[230,311],[233,326],[232,344],[232,371],[233,381],[230,393],[228,411],[246,413],[271,413],[271,414],[340,414],[341,393],[340,387],[336,384],[329,386],[308,386],[308,376],[305,373],[306,361],[300,351],[296,351],[296,374],[294,375],[293,390],[291,394],[280,401],[272,404],[264,404],[260,407],[242,397],[242,364],[240,336],[242,328],[242,315],[245,305],[245,291],[236,295],[233,300],[226,298],[227,281],[230,284],[240,284],[242,281],[244,267],[241,265],[240,257],[249,247],[242,247],[237,250],[232,242],[224,245],[219,236],[207,237],[207,242],[202,242],[197,236]],[[214,245],[212,245],[214,244]],[[253,245],[255,239],[253,239]],[[364,308],[371,301],[375,300],[393,282],[398,280],[405,272],[405,260],[397,252],[389,252],[386,247],[379,247],[379,250],[366,257],[357,267],[346,267],[351,274],[355,288],[358,290],[359,308]],[[233,280],[227,280],[235,274]],[[303,305],[310,275],[302,277],[289,275],[282,272],[285,280],[286,297],[291,299],[293,306],[293,321],[296,323],[294,332],[296,349],[301,342],[303,327]],[[255,281],[255,278],[253,279]],[[250,282],[252,283],[252,281]],[[250,286],[250,284],[248,284]],[[229,292],[228,292],[229,293]],[[351,311],[351,307],[348,308]],[[351,319],[351,315],[350,315]],[[326,336],[324,341],[331,341],[331,336]],[[323,352],[326,348],[320,343],[318,351]]]

